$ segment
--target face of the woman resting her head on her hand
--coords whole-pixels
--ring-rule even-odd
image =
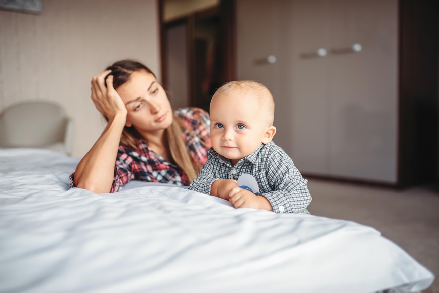
[[[172,108],[157,79],[144,70],[131,74],[116,90],[128,110],[126,126],[140,133],[166,129],[172,123]]]

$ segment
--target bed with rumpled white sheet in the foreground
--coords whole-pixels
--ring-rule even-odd
[[[434,280],[372,227],[168,184],[69,189],[78,161],[0,150],[1,292],[413,292]]]

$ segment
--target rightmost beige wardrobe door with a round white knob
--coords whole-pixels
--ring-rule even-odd
[[[328,8],[329,174],[396,183],[397,1]]]

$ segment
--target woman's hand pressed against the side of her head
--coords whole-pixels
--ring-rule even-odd
[[[92,100],[96,108],[107,119],[111,120],[116,114],[123,114],[126,118],[127,108],[122,101],[120,95],[113,87],[113,75],[109,75],[107,80],[105,77],[111,70],[105,70],[92,78]],[[105,86],[107,84],[107,87]]]

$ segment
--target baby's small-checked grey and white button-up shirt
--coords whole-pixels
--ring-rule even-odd
[[[263,195],[276,213],[307,213],[311,202],[307,180],[302,178],[291,158],[274,142],[261,144],[253,153],[241,159],[235,166],[213,148],[208,160],[189,189],[210,194],[213,181],[238,180],[242,174],[252,175]]]

